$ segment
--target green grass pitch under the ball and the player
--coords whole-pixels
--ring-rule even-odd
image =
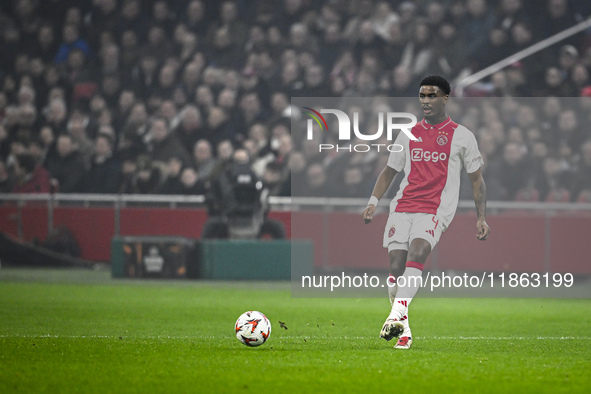
[[[258,348],[233,333],[250,309],[273,325]],[[591,300],[417,298],[409,351],[378,339],[388,309],[288,283],[2,269],[0,392],[591,390]]]

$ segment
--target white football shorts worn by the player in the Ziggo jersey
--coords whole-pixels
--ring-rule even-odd
[[[437,216],[430,213],[390,212],[384,231],[384,248],[408,250],[415,238],[421,238],[435,248],[445,229]]]

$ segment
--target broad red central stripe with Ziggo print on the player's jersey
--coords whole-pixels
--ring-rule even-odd
[[[447,119],[440,127],[431,127],[424,121],[412,129],[412,133],[422,142],[410,141],[408,158],[410,173],[407,174],[408,185],[396,205],[396,212],[419,212],[436,214],[441,203],[441,193],[445,187],[448,174],[451,140],[458,124]],[[440,138],[442,137],[442,138]],[[443,138],[444,137],[444,138]],[[444,139],[443,145],[438,143]],[[441,158],[444,158],[443,160]]]

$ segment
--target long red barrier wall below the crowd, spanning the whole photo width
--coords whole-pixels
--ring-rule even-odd
[[[0,207],[0,231],[17,236],[14,205]],[[47,235],[47,206],[27,205],[21,210],[23,239]],[[286,225],[288,237],[311,239],[315,265],[330,270],[341,267],[387,270],[382,248],[386,215],[363,224],[358,213],[271,212]],[[207,219],[201,209],[122,208],[120,235],[169,235],[198,238]],[[591,214],[546,216],[544,212],[488,215],[492,228],[488,241],[478,241],[473,213],[458,214],[442,235],[427,267],[473,271],[571,272],[591,274]],[[112,208],[56,207],[54,226],[64,225],[76,236],[82,257],[110,260],[115,234]]]

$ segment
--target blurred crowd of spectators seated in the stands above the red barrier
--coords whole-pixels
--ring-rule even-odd
[[[293,140],[291,97],[416,97],[425,74],[456,80],[590,15],[584,0],[5,1],[0,192],[204,194],[239,151],[271,195],[366,197],[385,156]],[[465,92],[479,99],[452,116],[478,138],[489,199],[591,201],[590,72],[586,32]]]

